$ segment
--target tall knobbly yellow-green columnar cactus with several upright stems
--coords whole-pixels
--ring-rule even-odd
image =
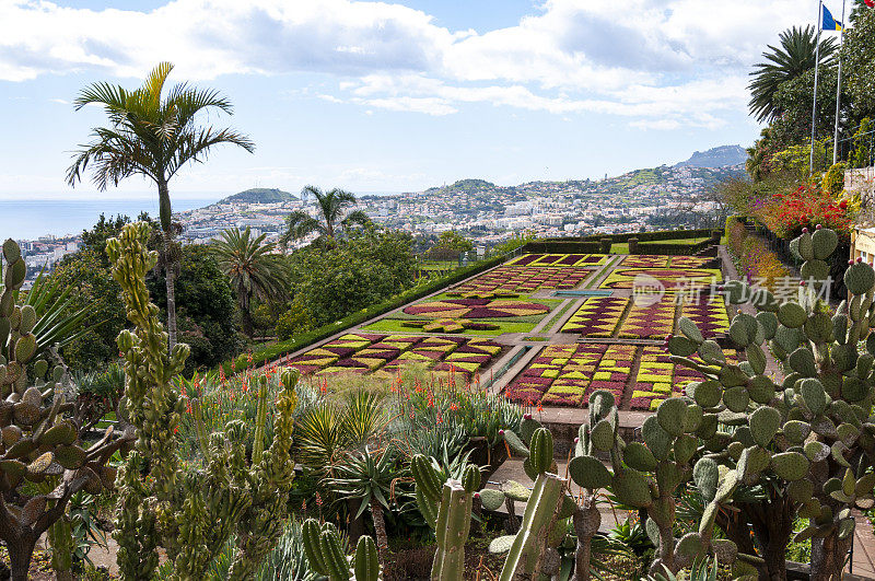
[[[172,384],[182,371],[188,347],[167,352],[167,334],[158,307],[149,302],[143,277],[158,257],[147,251],[149,225],[126,225],[119,239],[107,241],[113,277],[119,282],[133,332],[117,339],[125,360],[127,411],[137,430],[135,451],[118,475],[119,501],[115,538],[118,563],[126,579],[151,579],[158,566],[158,548],[174,563],[174,578],[198,579],[212,558],[234,535],[237,550],[231,579],[249,579],[259,561],[281,534],[288,514],[288,492],[294,475],[290,456],[292,412],[295,408],[295,371],[280,379],[273,440],[264,450],[267,421],[267,386],[260,385],[256,445],[252,461],[243,442],[248,427],[230,421],[224,431],[198,435],[202,467],[180,467],[173,431],[184,400]],[[192,406],[197,408],[197,406]],[[143,478],[144,473],[150,478]]]

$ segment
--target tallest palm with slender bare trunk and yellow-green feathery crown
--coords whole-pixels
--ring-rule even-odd
[[[231,143],[248,152],[255,144],[231,129],[215,129],[199,124],[201,113],[220,109],[232,113],[231,102],[217,91],[200,90],[187,83],[175,84],[164,94],[173,65],[162,62],[149,73],[143,84],[128,91],[106,82],[84,89],[73,102],[79,111],[85,105],[102,105],[108,127],[92,129],[94,140],[80,146],[67,172],[67,183],[75,186],[82,173],[93,165],[92,179],[105,190],[110,184],[133,175],[150,179],[158,187],[159,211],[168,263],[167,334],[171,349],[176,345],[176,293],[174,277],[173,224],[170,181],[188,162],[203,162],[213,146]]]

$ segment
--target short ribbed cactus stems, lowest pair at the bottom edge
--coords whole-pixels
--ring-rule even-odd
[[[380,559],[376,543],[368,535],[359,537],[351,558],[343,554],[340,534],[331,523],[307,519],[301,528],[304,554],[310,566],[329,581],[377,581]],[[462,579],[460,577],[458,579]]]

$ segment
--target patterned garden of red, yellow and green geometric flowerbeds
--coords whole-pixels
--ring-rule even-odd
[[[281,363],[319,379],[392,377],[416,364],[539,409],[585,407],[604,390],[620,409],[652,411],[700,379],[663,346],[678,319],[708,339],[726,336],[718,266],[707,256],[524,254]],[[529,334],[545,337],[533,345]]]

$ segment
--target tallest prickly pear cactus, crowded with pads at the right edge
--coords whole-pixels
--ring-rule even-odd
[[[730,302],[751,302],[758,311],[739,313],[730,326],[747,361],[727,363],[720,346],[703,340],[686,318],[679,323],[682,335],[668,341],[677,363],[704,375],[687,387],[684,402],[712,418],[707,432],[698,430],[710,454],[693,469],[697,486],[711,498],[708,520],[713,522],[716,504],[732,501],[727,484],[769,483],[778,497],[790,499],[789,518],[810,520],[796,539],[813,537],[813,579],[840,576],[854,531],[851,510],[875,504],[875,476],[868,472],[875,458],[875,270],[851,263],[844,274],[849,298],[830,313],[820,294],[829,284],[826,259],[837,244],[836,233],[819,226],[791,243],[806,279],[795,301],[780,303],[768,290],[726,283]],[[780,384],[767,372],[767,350],[783,372]],[[698,360],[690,359],[693,353]],[[672,416],[675,425],[680,416]],[[732,433],[716,431],[714,419]]]

